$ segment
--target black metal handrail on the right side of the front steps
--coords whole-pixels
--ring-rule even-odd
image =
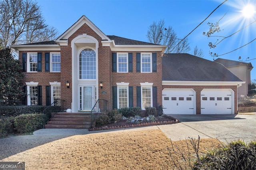
[[[95,105],[93,106],[93,108],[91,110],[91,128],[94,123],[94,120],[99,115],[99,113],[101,113],[102,111],[108,110],[107,102],[108,101],[106,101],[105,99],[98,99],[96,101]]]

